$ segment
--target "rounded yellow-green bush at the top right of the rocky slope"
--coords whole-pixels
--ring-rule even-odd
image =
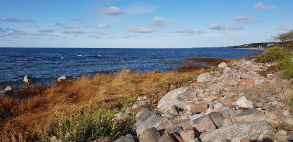
[[[283,47],[275,46],[258,56],[257,61],[261,63],[278,62],[286,56]]]

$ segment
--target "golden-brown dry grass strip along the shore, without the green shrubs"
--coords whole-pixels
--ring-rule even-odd
[[[99,74],[56,83],[54,87],[31,87],[0,98],[0,141],[28,142],[39,134],[55,135],[57,119],[70,119],[101,109],[119,110],[140,95],[158,100],[170,89],[195,81],[199,73],[131,72]],[[159,96],[159,97],[158,97]]]

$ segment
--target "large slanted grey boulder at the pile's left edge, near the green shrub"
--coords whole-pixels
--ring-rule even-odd
[[[167,121],[168,119],[166,117],[162,117],[158,114],[153,114],[147,119],[140,122],[140,124],[137,125],[136,128],[136,134],[139,136],[145,129],[151,128],[151,127],[157,127],[159,126],[163,121]]]

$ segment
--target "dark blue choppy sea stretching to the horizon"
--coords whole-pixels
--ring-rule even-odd
[[[243,54],[262,52],[219,48],[0,48],[0,86],[21,87],[25,85],[22,82],[24,75],[32,76],[35,84],[52,85],[62,75],[80,76],[123,69],[170,71],[184,65],[166,65],[165,62],[187,62],[187,58],[242,58]]]

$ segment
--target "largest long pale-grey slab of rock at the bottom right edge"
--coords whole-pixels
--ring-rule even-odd
[[[274,135],[269,122],[255,121],[224,126],[212,133],[202,134],[200,137],[203,142],[216,142],[222,138],[229,139],[231,142],[240,142],[243,139],[251,139],[255,142],[271,142],[274,140]]]

